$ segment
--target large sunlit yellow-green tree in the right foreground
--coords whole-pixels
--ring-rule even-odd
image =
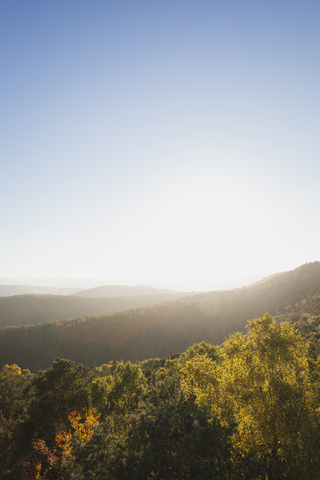
[[[312,411],[308,345],[289,324],[268,314],[248,323],[248,334],[231,336],[217,365],[187,362],[183,383],[198,404],[225,424],[235,423],[234,461],[247,478],[305,476],[305,422]],[[255,473],[254,473],[255,472]]]

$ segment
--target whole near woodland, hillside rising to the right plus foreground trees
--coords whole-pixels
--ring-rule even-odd
[[[0,480],[320,478],[318,262],[3,328],[0,355]]]

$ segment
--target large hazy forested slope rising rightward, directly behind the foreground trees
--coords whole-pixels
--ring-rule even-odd
[[[221,344],[230,333],[243,331],[248,319],[267,311],[284,315],[292,305],[317,294],[319,262],[251,287],[195,294],[111,315],[5,328],[0,330],[0,365],[17,363],[35,371],[48,368],[57,357],[86,365],[114,357],[164,357],[203,340]]]

